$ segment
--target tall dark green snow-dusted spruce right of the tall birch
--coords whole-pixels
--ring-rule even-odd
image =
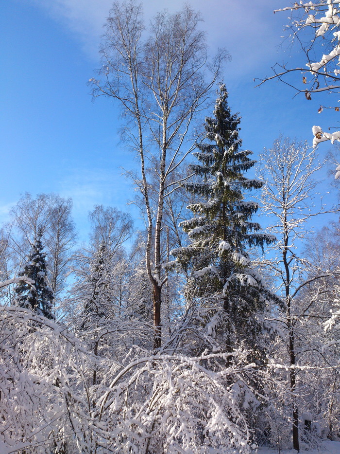
[[[242,341],[256,349],[254,314],[264,307],[268,292],[247,251],[262,248],[273,237],[259,233],[260,225],[251,220],[257,203],[245,200],[244,193],[263,183],[243,175],[255,161],[249,158],[251,151],[240,150],[240,117],[231,113],[227,98],[221,84],[214,117],[205,119],[210,143],[198,145],[199,163],[191,165],[196,180],[186,183],[198,198],[188,206],[195,217],[181,223],[190,243],[172,254],[191,271],[191,297],[194,293],[203,306],[209,304],[215,321],[222,321],[220,348],[231,353]]]

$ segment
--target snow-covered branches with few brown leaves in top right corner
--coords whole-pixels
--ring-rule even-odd
[[[275,10],[275,12],[290,11],[291,16],[286,29],[289,38],[297,46],[296,53],[302,55],[301,62],[296,67],[276,63],[273,75],[260,81],[258,85],[277,78],[289,85],[297,93],[304,93],[307,100],[312,93],[327,91],[335,101],[332,107],[325,107],[323,102],[318,112],[323,109],[340,111],[338,103],[340,93],[340,1],[327,0],[316,2],[293,3],[291,6]],[[324,53],[324,49],[327,53]],[[302,51],[302,52],[301,52]],[[298,76],[301,74],[301,77]],[[340,131],[325,132],[320,126],[312,128],[313,146],[321,142],[340,141]],[[339,177],[339,176],[338,176]]]

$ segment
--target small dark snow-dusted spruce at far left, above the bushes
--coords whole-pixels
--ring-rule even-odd
[[[26,276],[34,281],[29,285],[20,281],[14,290],[15,305],[21,308],[32,309],[38,315],[53,319],[52,302],[53,291],[47,282],[46,254],[41,242],[42,231],[38,229],[33,244],[33,252],[29,254],[27,263],[19,276]]]

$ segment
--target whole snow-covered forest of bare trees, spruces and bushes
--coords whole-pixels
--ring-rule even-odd
[[[338,102],[339,5],[287,7],[307,66],[260,83]],[[340,166],[318,150],[339,159],[340,133],[245,150],[200,22],[148,25],[132,0],[105,23],[89,84],[121,109],[140,218],[98,204],[80,242],[71,199],[27,193],[0,226],[0,454],[340,452],[340,209],[320,194]]]

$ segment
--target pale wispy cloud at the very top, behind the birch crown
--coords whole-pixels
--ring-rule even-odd
[[[102,25],[109,14],[111,0],[34,0],[53,18],[61,20],[81,40],[83,49],[92,58],[98,58]],[[182,0],[146,0],[143,2],[148,22],[164,8],[176,11]],[[280,43],[284,17],[273,15],[282,6],[280,0],[194,0],[194,9],[201,11],[202,27],[207,30],[212,52],[224,47],[232,55],[232,73],[254,72],[275,53],[273,43]],[[228,67],[230,71],[230,66]]]

